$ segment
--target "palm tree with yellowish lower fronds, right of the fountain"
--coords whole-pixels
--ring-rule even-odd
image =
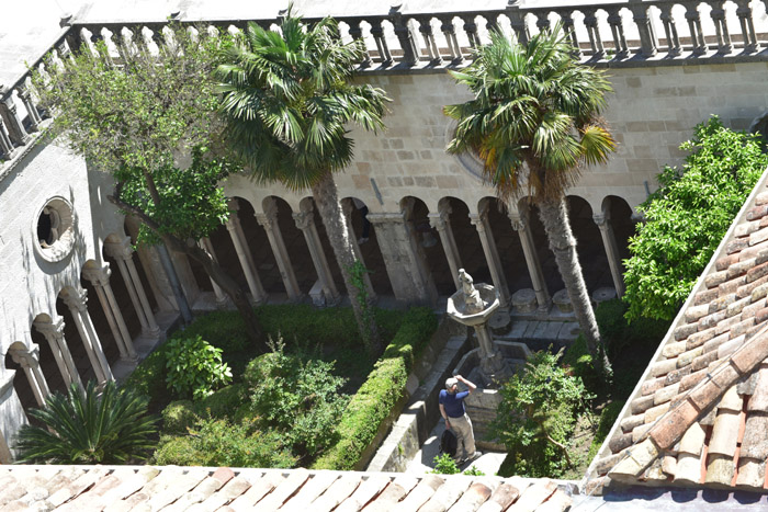
[[[585,164],[605,162],[615,149],[599,117],[612,89],[603,72],[573,58],[566,36],[557,25],[521,45],[500,32],[492,33],[490,43],[477,49],[471,66],[450,71],[474,100],[443,111],[458,121],[448,151],[476,151],[485,161],[486,180],[502,200],[526,195],[538,206],[576,318],[599,361],[600,333],[565,191]],[[602,364],[610,371],[605,351]]]

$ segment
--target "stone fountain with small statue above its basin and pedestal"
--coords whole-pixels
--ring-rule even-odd
[[[459,270],[461,289],[448,299],[448,315],[459,323],[475,328],[479,344],[479,372],[485,383],[506,380],[511,375],[501,353],[494,346],[488,320],[499,307],[496,288],[484,283],[474,284],[472,276]]]

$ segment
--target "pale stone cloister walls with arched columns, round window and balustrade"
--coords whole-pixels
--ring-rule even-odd
[[[25,408],[72,382],[120,378],[158,343],[179,309],[158,252],[134,251],[135,221],[105,200],[109,175],[41,136],[49,121],[31,94],[23,62],[34,68],[50,50],[66,58],[74,47],[127,31],[161,45],[169,14],[219,30],[248,19],[270,26],[279,14],[276,7],[227,11],[199,3],[169,13],[146,2],[131,18],[121,16],[118,7],[94,5],[65,16],[60,30],[47,26],[44,37],[35,37],[42,46],[33,45],[33,55],[27,42],[0,38],[12,57],[0,73],[2,463],[12,459],[10,443]],[[620,149],[606,166],[589,169],[568,196],[596,298],[621,295],[633,209],[655,187],[659,169],[680,162],[678,146],[692,126],[713,113],[747,128],[767,104],[768,23],[759,2],[723,8],[712,1],[699,9],[698,2],[665,0],[579,7],[488,1],[466,10],[456,0],[439,9],[425,1],[392,9],[359,3],[345,11],[340,2],[295,3],[308,19],[337,15],[345,37],[364,38],[361,80],[394,100],[386,132],[354,134],[354,163],[337,183],[358,234],[362,218],[352,198],[370,211],[371,239],[355,251],[374,271],[371,293],[402,304],[437,306],[460,286],[461,268],[492,283],[507,309],[545,314],[563,287],[535,213],[524,202],[499,204],[472,156],[444,151],[453,127],[441,109],[467,98],[445,68],[467,62],[488,27],[524,39],[560,19],[574,29],[585,62],[611,68],[615,94],[606,118]],[[244,175],[224,186],[233,217],[201,244],[238,276],[253,304],[307,295],[318,304],[341,299],[338,266],[308,193],[259,187]],[[227,306],[200,269],[181,254],[171,257],[193,308]]]

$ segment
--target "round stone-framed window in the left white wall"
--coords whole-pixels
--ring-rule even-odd
[[[75,214],[72,205],[64,197],[52,197],[35,219],[35,250],[43,259],[55,262],[72,251],[75,242]]]

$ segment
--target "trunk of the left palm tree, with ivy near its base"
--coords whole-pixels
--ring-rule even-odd
[[[350,301],[352,303],[352,310],[354,311],[354,319],[358,322],[360,335],[363,338],[371,354],[377,355],[382,349],[379,327],[376,326],[376,319],[371,310],[372,305],[361,304],[361,289],[354,286],[352,276],[350,275],[350,269],[354,265],[357,258],[352,249],[351,234],[349,225],[347,224],[347,217],[341,209],[339,193],[330,171],[326,172],[326,174],[312,186],[312,196],[315,198],[317,211],[326,227],[330,247],[334,248],[334,253],[336,254],[336,261],[339,262],[339,266],[341,268],[341,276],[345,281]],[[364,310],[364,308],[366,310]]]

